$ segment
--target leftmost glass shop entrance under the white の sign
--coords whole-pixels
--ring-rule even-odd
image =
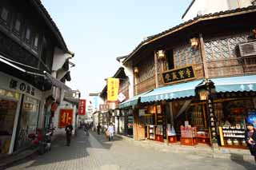
[[[9,153],[18,102],[0,98],[0,156]]]

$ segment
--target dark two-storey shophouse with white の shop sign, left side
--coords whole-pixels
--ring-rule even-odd
[[[45,127],[55,94],[69,89],[63,58],[73,55],[39,0],[0,2],[0,157],[29,147],[29,134]]]

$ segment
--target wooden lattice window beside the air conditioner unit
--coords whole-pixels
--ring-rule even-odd
[[[230,57],[237,57],[237,45],[246,42],[247,36],[240,35],[231,38],[214,39],[205,42],[206,60],[213,61]]]

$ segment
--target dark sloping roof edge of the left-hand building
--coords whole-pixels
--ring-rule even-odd
[[[30,0],[30,2],[32,2],[32,4],[36,7],[38,12],[42,15],[42,18],[45,19],[46,23],[50,27],[50,30],[53,31],[54,35],[58,39],[58,42],[60,43],[60,45],[62,45],[62,49],[65,50],[66,53],[70,53],[74,55],[74,53],[71,53],[67,48],[64,38],[62,37],[61,32],[58,30],[58,26],[55,24],[54,20],[50,17],[50,14],[46,10],[46,8],[42,5],[41,0]]]

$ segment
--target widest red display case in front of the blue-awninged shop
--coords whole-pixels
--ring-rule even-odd
[[[181,128],[181,144],[183,145],[195,145],[198,144],[197,128]]]

